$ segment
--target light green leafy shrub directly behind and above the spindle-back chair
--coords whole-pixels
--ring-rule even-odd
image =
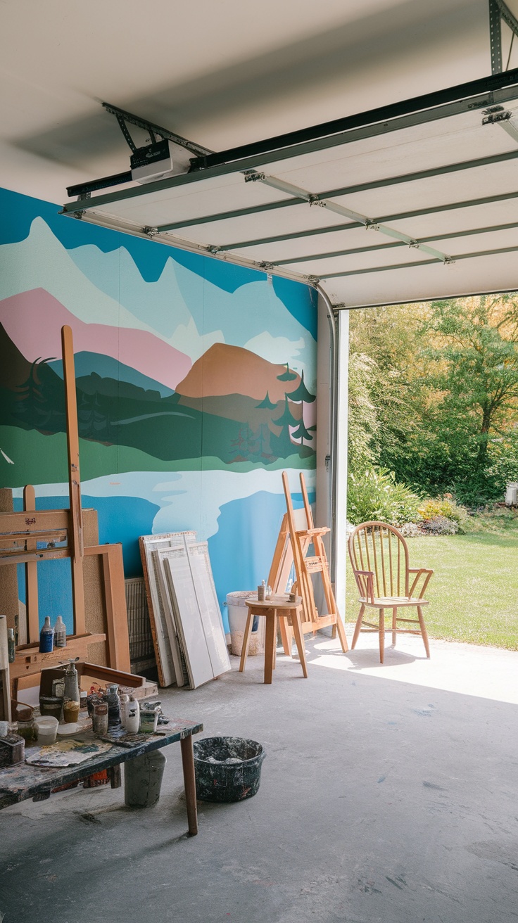
[[[386,468],[349,475],[347,519],[354,525],[369,520],[402,525],[416,520],[421,503],[421,497],[396,481]]]

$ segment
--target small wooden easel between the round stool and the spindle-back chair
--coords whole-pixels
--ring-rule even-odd
[[[297,593],[302,597],[302,620],[301,627],[303,634],[312,631],[313,634],[327,625],[331,625],[335,631],[338,631],[338,637],[342,645],[343,653],[349,648],[345,637],[343,621],[338,612],[334,593],[332,592],[331,579],[329,574],[329,564],[326,550],[323,543],[323,535],[329,533],[328,528],[315,528],[313,514],[307,497],[306,481],[304,473],[300,473],[300,485],[302,489],[302,498],[304,501],[305,527],[300,529],[300,513],[296,517],[293,508],[288,475],[283,472],[283,488],[286,498],[286,513],[283,517],[283,524],[275,546],[269,583],[274,593],[283,593],[289,576],[292,563],[295,564],[295,584]],[[298,510],[296,511],[298,512]],[[309,546],[313,545],[314,554],[308,556]],[[312,577],[320,574],[324,599],[327,607],[325,615],[319,615],[315,596],[313,593]],[[281,624],[281,637],[283,639],[284,653],[291,655],[292,649],[292,632]]]

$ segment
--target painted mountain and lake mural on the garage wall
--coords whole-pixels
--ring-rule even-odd
[[[67,501],[60,330],[74,334],[83,505],[102,542],[196,529],[220,600],[265,577],[281,472],[314,489],[317,309],[306,286],[97,228],[0,190],[0,486]],[[70,617],[67,562],[39,566]],[[57,586],[59,584],[59,586]],[[46,600],[46,603],[44,602]],[[53,602],[54,600],[54,602]]]

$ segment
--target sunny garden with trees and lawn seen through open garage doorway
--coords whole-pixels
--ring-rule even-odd
[[[518,294],[348,313],[348,522],[434,570],[431,638],[518,650]]]

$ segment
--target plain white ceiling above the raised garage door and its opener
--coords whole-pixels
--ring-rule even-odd
[[[487,0],[3,0],[2,184],[126,170],[101,100],[223,150],[489,72]]]

